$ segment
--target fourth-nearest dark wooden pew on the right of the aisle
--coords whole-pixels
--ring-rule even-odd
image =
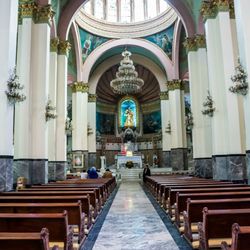
[[[175,224],[180,226],[180,212],[186,210],[187,199],[191,200],[214,200],[231,198],[250,198],[250,192],[210,192],[210,193],[185,193],[176,194]]]

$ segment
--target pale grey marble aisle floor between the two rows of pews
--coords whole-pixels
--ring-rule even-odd
[[[139,183],[122,183],[94,250],[179,249]]]

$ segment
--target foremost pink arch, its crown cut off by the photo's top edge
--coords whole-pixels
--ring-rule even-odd
[[[58,25],[58,36],[61,40],[67,40],[68,37],[68,31],[70,24],[72,22],[72,19],[75,15],[75,13],[81,8],[81,6],[86,2],[87,0],[74,0],[69,1],[68,4],[63,9],[59,25]],[[176,0],[165,0],[169,3],[169,5],[175,9],[175,11],[180,16],[187,36],[193,36],[195,34],[195,23],[194,20],[185,6],[185,4],[182,1],[176,1]]]

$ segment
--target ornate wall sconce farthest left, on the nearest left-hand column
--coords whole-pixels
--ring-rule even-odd
[[[24,86],[19,83],[19,77],[16,75],[16,67],[7,81],[7,86],[8,90],[5,91],[5,93],[11,104],[23,102],[26,99],[26,96],[20,93],[20,90],[22,90]]]

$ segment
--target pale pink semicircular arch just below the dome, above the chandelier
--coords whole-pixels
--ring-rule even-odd
[[[92,51],[92,53],[87,57],[86,61],[84,62],[84,65],[82,68],[82,81],[83,82],[89,81],[91,69],[93,68],[98,58],[102,56],[105,52],[115,47],[121,47],[121,46],[127,46],[127,45],[142,47],[150,51],[151,53],[153,53],[161,62],[168,78],[169,79],[174,78],[174,75],[173,75],[174,70],[173,70],[172,61],[163,52],[163,50],[161,50],[158,46],[143,39],[119,39],[119,40],[107,41],[106,43],[102,44],[101,46],[96,48],[94,51]],[[120,60],[116,61],[116,63],[119,61]]]

